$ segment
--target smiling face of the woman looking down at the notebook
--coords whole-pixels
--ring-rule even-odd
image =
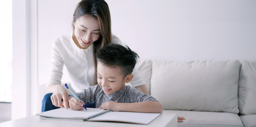
[[[99,21],[97,18],[86,14],[73,20],[74,35],[73,40],[81,49],[87,49],[93,42],[101,36]]]

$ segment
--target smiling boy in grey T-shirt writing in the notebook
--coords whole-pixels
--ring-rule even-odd
[[[137,58],[137,53],[127,46],[104,46],[96,54],[98,84],[76,95],[83,104],[96,101],[96,108],[100,109],[161,113],[163,107],[155,98],[125,85],[133,78],[131,73]],[[69,97],[69,107],[72,110],[83,110],[82,103],[75,97]]]

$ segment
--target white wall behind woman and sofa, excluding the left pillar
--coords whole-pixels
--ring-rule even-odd
[[[142,59],[256,61],[255,0],[106,0],[112,32]],[[39,84],[79,0],[38,0]],[[69,81],[64,71],[63,81]]]

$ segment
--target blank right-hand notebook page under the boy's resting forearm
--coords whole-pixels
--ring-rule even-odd
[[[147,125],[162,113],[135,113],[124,111],[110,111],[88,121],[116,121]]]

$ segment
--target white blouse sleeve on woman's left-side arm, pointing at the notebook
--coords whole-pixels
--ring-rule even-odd
[[[49,86],[49,84],[57,84],[57,85],[61,84],[64,62],[63,62],[62,55],[58,49],[62,47],[60,45],[61,45],[61,40],[59,39],[54,41],[52,45],[51,68],[50,68],[49,80],[46,84],[46,89]]]

